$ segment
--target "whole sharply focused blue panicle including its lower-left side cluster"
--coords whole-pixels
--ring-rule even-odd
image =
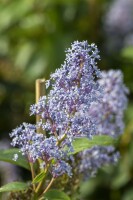
[[[49,165],[54,177],[71,175],[66,158],[68,151],[73,150],[72,141],[76,137],[91,137],[96,131],[88,111],[92,102],[101,99],[98,59],[96,45],[88,45],[87,41],[72,43],[64,64],[46,82],[49,94],[30,108],[31,115],[40,115],[41,120],[37,125],[23,123],[10,134],[13,146],[18,146],[30,162],[41,159],[40,167]],[[45,135],[37,133],[39,127],[45,130]]]

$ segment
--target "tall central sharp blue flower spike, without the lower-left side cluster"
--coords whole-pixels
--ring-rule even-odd
[[[31,114],[45,119],[39,125],[56,137],[66,135],[64,142],[69,139],[69,144],[75,137],[91,137],[96,131],[96,122],[88,111],[102,96],[97,81],[101,77],[98,53],[96,45],[88,45],[87,41],[72,43],[64,64],[46,82],[49,94],[31,106]]]

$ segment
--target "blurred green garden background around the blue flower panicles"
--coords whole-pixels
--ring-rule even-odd
[[[13,128],[35,122],[35,80],[48,79],[75,40],[96,43],[99,68],[121,69],[130,90],[120,161],[82,183],[80,199],[133,200],[133,0],[0,1],[0,148]],[[9,180],[0,175],[0,185]]]

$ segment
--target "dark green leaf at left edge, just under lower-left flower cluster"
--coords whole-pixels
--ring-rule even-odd
[[[18,159],[16,161],[13,160],[14,154],[18,154]],[[21,152],[19,152],[19,149],[17,148],[0,150],[0,161],[9,162],[30,170],[28,161],[24,156],[22,156]]]

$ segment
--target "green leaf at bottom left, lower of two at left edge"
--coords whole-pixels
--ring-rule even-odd
[[[23,182],[11,182],[6,185],[3,185],[0,188],[0,192],[11,192],[11,191],[21,191],[26,190],[28,187],[27,183]]]

